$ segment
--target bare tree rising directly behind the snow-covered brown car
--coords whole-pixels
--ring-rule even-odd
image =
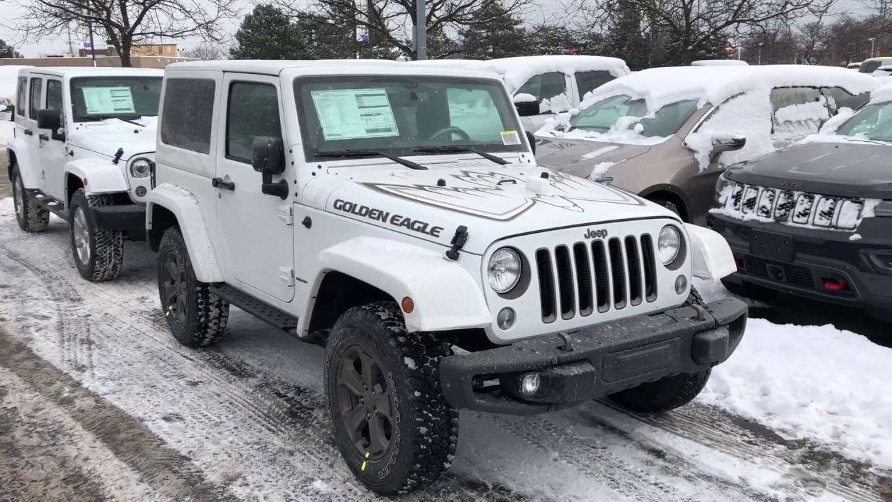
[[[703,46],[742,38],[772,21],[792,22],[828,13],[837,0],[570,0],[592,24],[606,26],[614,13],[635,9],[645,32],[672,41],[690,63]]]

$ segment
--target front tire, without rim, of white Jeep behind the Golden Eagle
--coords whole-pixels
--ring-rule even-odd
[[[96,228],[93,221],[90,208],[102,205],[114,205],[111,195],[87,195],[83,188],[78,188],[78,191],[71,196],[68,207],[71,255],[74,257],[74,264],[77,265],[80,276],[93,282],[117,279],[121,264],[124,263],[124,238],[120,230],[99,229]],[[75,243],[76,223],[74,218],[78,207],[84,213],[87,230],[89,230],[90,256],[87,264],[84,264],[78,257],[78,248]]]

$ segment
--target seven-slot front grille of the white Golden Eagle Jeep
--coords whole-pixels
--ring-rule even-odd
[[[542,247],[535,260],[543,322],[657,299],[656,252],[649,234]]]

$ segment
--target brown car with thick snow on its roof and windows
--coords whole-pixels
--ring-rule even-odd
[[[703,224],[732,163],[817,132],[879,80],[805,65],[655,68],[615,79],[538,130],[541,165],[620,188]]]

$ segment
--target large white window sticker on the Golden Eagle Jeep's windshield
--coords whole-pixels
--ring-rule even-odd
[[[314,90],[310,94],[326,141],[400,136],[383,88]]]

